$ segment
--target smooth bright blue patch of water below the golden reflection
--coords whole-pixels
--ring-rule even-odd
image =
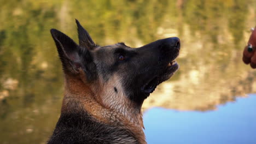
[[[155,107],[144,113],[152,143],[256,143],[256,94],[218,106],[216,111],[174,111]]]

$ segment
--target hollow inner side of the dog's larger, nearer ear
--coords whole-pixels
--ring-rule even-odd
[[[83,55],[86,49],[79,47],[71,38],[57,29],[51,29],[50,32],[55,41],[63,70],[65,73],[78,74],[79,68],[84,67]]]

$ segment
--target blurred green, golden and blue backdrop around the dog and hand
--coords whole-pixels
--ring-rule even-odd
[[[52,134],[63,74],[49,30],[78,41],[75,19],[100,45],[181,39],[179,70],[143,104],[148,143],[256,143],[256,70],[242,63],[255,0],[0,0],[0,9],[0,143]]]

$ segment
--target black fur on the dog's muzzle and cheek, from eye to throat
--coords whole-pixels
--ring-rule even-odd
[[[129,51],[121,48],[115,50],[115,52],[120,52],[121,55],[126,56],[127,59],[122,61],[122,64],[120,62],[114,63],[110,67],[112,68],[111,73],[121,70],[118,73],[123,74],[122,81],[126,95],[138,106],[141,106],[144,99],[150,94],[141,91],[143,85],[153,79],[154,76],[159,76],[159,85],[169,79],[170,75],[178,69],[178,65],[171,70],[167,70],[166,67],[179,54],[179,46],[175,46],[177,41],[179,41],[178,38],[160,39]],[[124,69],[120,69],[119,65],[125,65]]]

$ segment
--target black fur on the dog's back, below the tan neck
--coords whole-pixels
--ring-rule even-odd
[[[79,107],[79,102],[72,101]],[[86,111],[74,109],[72,113],[61,113],[53,136],[48,144],[121,144],[138,143],[130,131],[98,122]]]

